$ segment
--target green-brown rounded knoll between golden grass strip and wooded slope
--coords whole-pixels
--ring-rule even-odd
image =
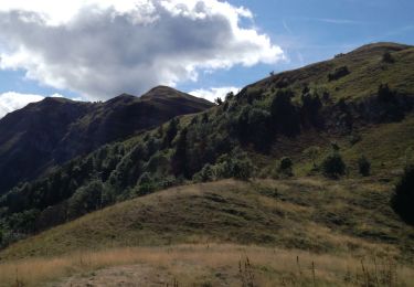
[[[115,204],[20,241],[0,258],[182,243],[237,243],[325,254],[412,258],[412,227],[389,201],[392,184],[323,178],[224,180]]]

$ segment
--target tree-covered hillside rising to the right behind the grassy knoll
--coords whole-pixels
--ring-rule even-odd
[[[413,153],[413,55],[407,45],[367,45],[272,75],[229,94],[220,106],[71,160],[0,199],[2,244],[192,182],[325,176],[339,184],[346,184],[343,178],[394,183]],[[140,100],[164,103],[166,89],[158,96],[151,91]],[[130,97],[114,99],[118,100]],[[343,164],[329,173],[323,162],[332,157]],[[370,168],[365,177],[359,170],[361,158]],[[391,194],[381,204],[389,204]]]

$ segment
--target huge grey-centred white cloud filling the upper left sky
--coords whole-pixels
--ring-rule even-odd
[[[252,12],[219,0],[6,0],[0,68],[88,99],[197,81],[200,71],[275,63]]]

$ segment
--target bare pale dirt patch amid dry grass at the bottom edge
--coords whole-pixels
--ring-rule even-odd
[[[156,269],[146,265],[129,265],[105,268],[88,274],[72,276],[59,284],[51,286],[60,287],[159,287],[173,286],[174,278],[162,269]]]

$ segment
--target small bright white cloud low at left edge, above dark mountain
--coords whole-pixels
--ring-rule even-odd
[[[53,95],[61,96],[61,95]],[[32,94],[20,94],[15,92],[8,92],[0,94],[0,118],[4,117],[8,113],[26,106],[29,103],[42,100],[44,96]]]

